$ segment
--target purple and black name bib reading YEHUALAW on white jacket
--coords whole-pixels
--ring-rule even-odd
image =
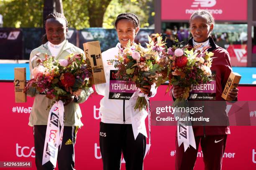
[[[136,92],[136,84],[117,77],[118,70],[110,70],[109,99],[129,100]]]

